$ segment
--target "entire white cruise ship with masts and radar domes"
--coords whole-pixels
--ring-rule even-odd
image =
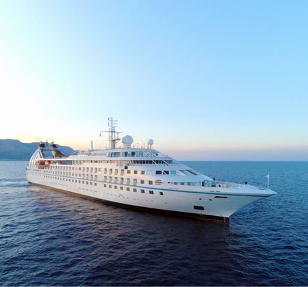
[[[116,120],[108,120],[107,149],[66,156],[54,143],[40,142],[27,164],[28,182],[126,208],[224,223],[241,208],[277,194],[209,178],[153,149],[153,139],[146,147],[133,147],[132,137],[120,139]]]

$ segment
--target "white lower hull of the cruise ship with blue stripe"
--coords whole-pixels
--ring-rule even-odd
[[[248,184],[234,188],[183,188],[170,187],[170,184],[144,187],[69,176],[50,176],[44,169],[28,169],[27,180],[42,187],[94,197],[110,204],[221,221],[228,221],[241,208],[274,194],[271,190],[262,191]]]

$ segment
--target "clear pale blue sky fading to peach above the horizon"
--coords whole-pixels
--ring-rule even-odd
[[[2,0],[0,139],[308,161],[307,1]],[[120,143],[118,144],[120,146]]]

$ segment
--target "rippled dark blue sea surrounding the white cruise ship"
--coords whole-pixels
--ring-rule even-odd
[[[307,286],[308,163],[185,162],[279,194],[229,226],[34,187],[0,161],[1,286]]]

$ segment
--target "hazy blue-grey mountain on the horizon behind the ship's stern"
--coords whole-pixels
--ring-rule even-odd
[[[74,150],[68,146],[57,145],[64,154],[71,154]],[[18,139],[0,139],[0,161],[28,161],[38,148],[37,143],[22,143]]]

